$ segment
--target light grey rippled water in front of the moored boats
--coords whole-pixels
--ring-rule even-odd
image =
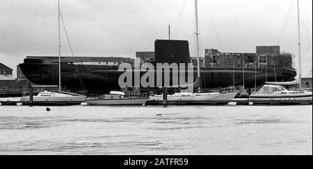
[[[0,154],[312,154],[312,105],[0,106]]]

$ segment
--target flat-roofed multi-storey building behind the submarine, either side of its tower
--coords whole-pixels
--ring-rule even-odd
[[[138,51],[136,58],[141,64],[154,62],[155,53],[152,51]],[[193,66],[198,65],[197,57],[190,57]],[[287,67],[292,69],[292,57],[281,54],[280,46],[257,46],[256,53],[222,53],[218,49],[205,49],[205,55],[200,56],[201,67],[246,67],[265,68],[266,66]]]

